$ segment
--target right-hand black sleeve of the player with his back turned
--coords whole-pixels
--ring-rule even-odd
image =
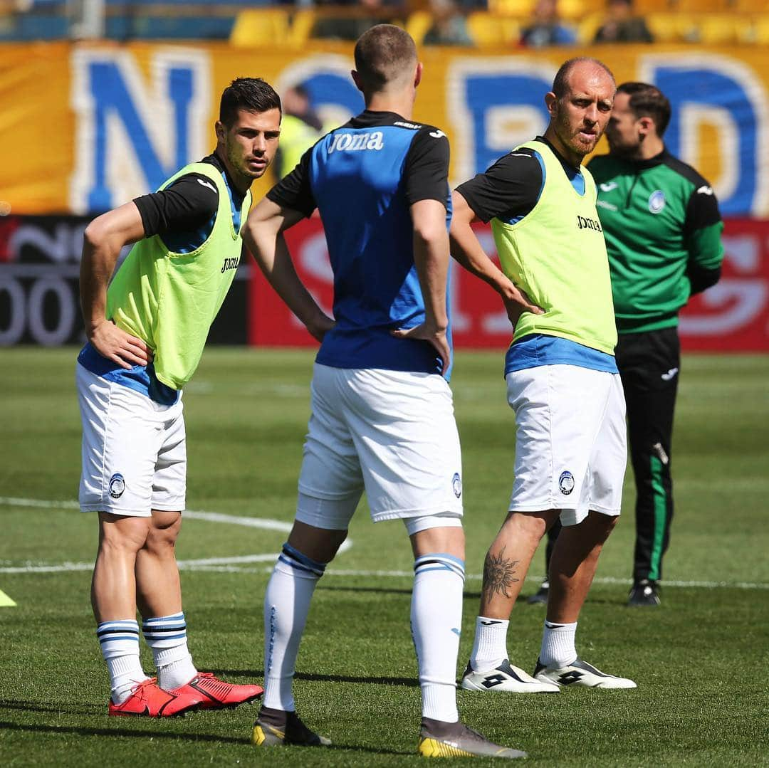
[[[448,138],[425,125],[414,136],[404,165],[406,204],[437,200],[448,208]]]

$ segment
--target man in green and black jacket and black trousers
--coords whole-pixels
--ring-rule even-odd
[[[713,188],[664,146],[670,117],[670,102],[654,85],[620,85],[606,129],[609,154],[590,163],[609,254],[637,491],[631,606],[660,603],[673,517],[678,312],[717,283],[724,257]]]

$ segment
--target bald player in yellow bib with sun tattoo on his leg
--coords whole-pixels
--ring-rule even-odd
[[[608,258],[595,184],[581,165],[608,123],[615,88],[601,62],[565,62],[544,98],[544,135],[454,191],[452,255],[501,294],[515,328],[504,365],[516,421],[515,479],[484,562],[462,678],[467,690],[635,687],[584,662],[575,648],[598,555],[620,514],[626,463]],[[491,221],[502,271],[475,238],[475,219]],[[532,306],[521,311],[514,291]],[[551,558],[547,620],[531,676],[508,660],[508,623],[534,550],[559,519],[564,530]]]

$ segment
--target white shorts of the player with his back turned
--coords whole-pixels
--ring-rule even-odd
[[[311,407],[297,520],[344,530],[363,490],[375,522],[462,516],[459,434],[444,378],[316,363]],[[311,508],[312,499],[335,504]],[[329,514],[335,519],[319,519]]]

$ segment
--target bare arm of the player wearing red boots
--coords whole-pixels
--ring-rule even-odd
[[[141,214],[130,202],[95,218],[85,228],[83,237],[80,304],[85,333],[102,357],[124,368],[148,364],[151,350],[144,341],[108,321],[107,286],[123,246],[144,236]]]

